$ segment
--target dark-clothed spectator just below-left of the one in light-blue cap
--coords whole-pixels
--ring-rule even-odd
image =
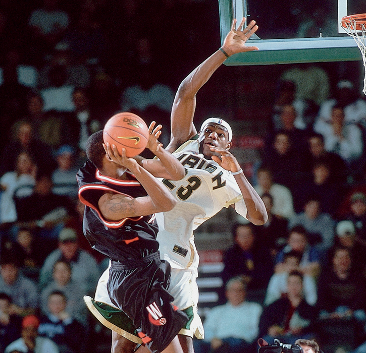
[[[75,213],[72,201],[54,194],[52,188],[51,177],[39,174],[33,194],[17,202],[18,225],[39,227],[38,235],[44,241],[57,239],[64,220]]]

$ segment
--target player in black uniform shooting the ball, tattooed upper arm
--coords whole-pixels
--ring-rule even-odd
[[[116,146],[103,145],[102,131],[91,135],[86,145],[89,160],[77,179],[79,198],[86,205],[84,234],[112,261],[111,300],[132,319],[151,352],[168,353],[182,352],[177,334],[188,317],[171,305],[173,297],[166,290],[170,266],[160,260],[156,241],[154,213],[171,210],[176,201],[154,176],[179,180],[185,170],[158,142],[160,129],[150,125],[147,145],[159,160],[140,164],[125,151],[119,155]]]

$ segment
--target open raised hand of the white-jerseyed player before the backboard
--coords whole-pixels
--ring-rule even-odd
[[[249,24],[243,29],[245,20],[246,18],[243,17],[237,29],[235,29],[237,20],[233,20],[231,30],[224,39],[224,43],[222,46],[222,48],[228,53],[228,55],[233,55],[244,51],[259,50],[256,46],[245,45],[246,41],[258,29],[255,21],[250,21]]]

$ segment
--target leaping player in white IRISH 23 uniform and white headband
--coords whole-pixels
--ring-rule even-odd
[[[202,324],[197,315],[198,288],[195,278],[199,258],[193,230],[223,207],[229,206],[233,206],[254,224],[260,225],[267,220],[263,201],[245,178],[236,158],[229,152],[232,139],[229,124],[219,117],[213,117],[202,124],[198,134],[193,124],[195,95],[199,88],[224,62],[226,56],[255,49],[245,46],[246,40],[257,29],[255,22],[251,21],[243,30],[244,19],[237,30],[235,24],[236,21],[223,47],[198,66],[178,89],[171,117],[172,140],[167,150],[181,161],[187,173],[180,181],[163,180],[178,203],[172,211],[156,214],[161,257],[169,261],[172,267],[169,291],[175,298],[173,304],[186,310],[192,319],[180,332],[185,352],[193,352],[193,334],[203,338]],[[123,313],[113,308],[109,310],[106,306],[109,304],[113,307],[108,297],[107,281],[108,270],[99,279],[95,301],[88,298],[86,303],[99,321],[114,331],[112,351],[132,352],[135,343],[139,342],[138,337],[134,337],[133,330],[126,332],[126,326],[122,327],[118,319],[111,320],[112,316]]]

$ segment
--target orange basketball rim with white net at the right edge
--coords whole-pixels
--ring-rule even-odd
[[[347,34],[353,37],[359,50],[361,50],[365,76],[363,79],[363,93],[366,95],[366,14],[345,16],[341,26],[348,29]]]

